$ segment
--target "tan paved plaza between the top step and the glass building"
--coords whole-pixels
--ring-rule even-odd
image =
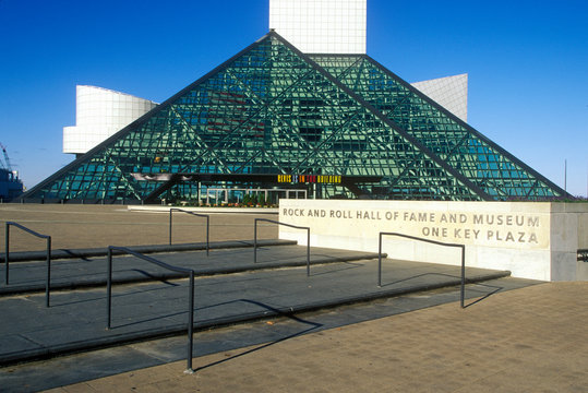
[[[251,209],[251,212],[255,211]],[[253,239],[254,219],[271,217],[277,219],[277,215],[268,214],[213,214],[211,240]],[[0,204],[0,223],[5,221],[51,236],[53,249],[166,245],[169,241],[169,214],[129,211],[121,205]],[[175,243],[205,241],[205,228],[204,218],[173,213]],[[276,239],[278,228],[273,224],[261,223],[257,237]],[[4,245],[4,228],[0,230],[0,245]],[[43,239],[11,229],[11,251],[44,249]]]

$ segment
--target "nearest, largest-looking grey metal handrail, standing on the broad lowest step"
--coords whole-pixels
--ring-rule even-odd
[[[194,372],[192,369],[192,346],[193,346],[193,324],[194,324],[194,271],[191,269],[178,267],[167,264],[165,262],[158,261],[154,258],[143,255],[142,253],[135,252],[125,247],[118,246],[108,246],[108,277],[106,282],[106,294],[107,294],[107,330],[111,329],[111,315],[112,315],[112,250],[119,250],[131,255],[134,255],[144,261],[154,263],[164,269],[170,270],[172,272],[184,273],[190,278],[190,288],[189,288],[189,301],[188,301],[188,369],[187,372]]]

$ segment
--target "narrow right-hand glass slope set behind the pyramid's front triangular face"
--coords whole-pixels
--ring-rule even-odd
[[[481,196],[484,199],[537,200],[564,194],[549,180],[368,56],[313,58],[476,184],[483,191]]]

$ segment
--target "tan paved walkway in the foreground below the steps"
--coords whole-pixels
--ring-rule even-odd
[[[584,393],[587,326],[588,283],[548,283],[51,392]]]

